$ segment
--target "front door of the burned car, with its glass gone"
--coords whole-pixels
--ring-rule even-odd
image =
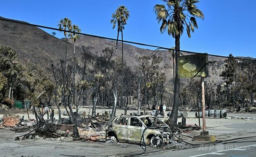
[[[128,142],[139,143],[144,129],[145,129],[144,125],[138,118],[136,117],[129,118],[129,125],[128,125],[128,131],[127,131]]]

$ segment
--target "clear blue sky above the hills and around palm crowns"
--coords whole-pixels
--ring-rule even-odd
[[[167,33],[160,33],[153,12],[153,6],[161,3],[160,0],[4,0],[0,5],[0,16],[55,28],[60,18],[68,17],[84,33],[116,38],[117,30],[112,30],[111,15],[118,6],[125,5],[130,17],[124,40],[172,47],[175,40]],[[201,0],[198,7],[205,19],[197,20],[199,29],[191,34],[191,38],[186,32],[182,35],[181,49],[256,58],[255,6],[255,0]],[[57,37],[62,37],[61,33],[56,33]]]

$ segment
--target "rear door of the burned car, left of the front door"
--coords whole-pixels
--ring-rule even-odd
[[[113,131],[117,135],[117,139],[121,142],[127,142],[127,122],[128,117],[120,117],[113,124]]]

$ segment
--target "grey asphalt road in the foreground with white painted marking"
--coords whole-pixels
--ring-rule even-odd
[[[148,147],[146,152],[139,145],[100,142],[61,142],[50,140],[19,140],[22,133],[0,130],[0,157],[255,157],[256,138],[197,146],[181,150]]]

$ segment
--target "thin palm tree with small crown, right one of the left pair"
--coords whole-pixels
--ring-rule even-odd
[[[75,105],[75,74],[76,74],[76,46],[75,46],[75,42],[77,41],[77,39],[79,39],[79,34],[77,34],[76,32],[80,33],[81,29],[79,29],[78,25],[72,25],[71,28],[69,28],[73,33],[69,33],[69,37],[72,39],[73,43],[74,43],[74,58],[73,58],[73,106]]]

